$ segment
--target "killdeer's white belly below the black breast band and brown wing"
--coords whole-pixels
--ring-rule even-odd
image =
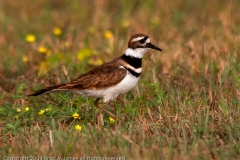
[[[124,79],[115,86],[98,90],[81,90],[74,92],[87,97],[103,98],[103,102],[108,102],[117,98],[119,94],[124,94],[130,91],[136,86],[138,79],[139,77],[134,77],[128,73]]]

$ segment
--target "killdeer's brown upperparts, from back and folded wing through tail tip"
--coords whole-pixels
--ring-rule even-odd
[[[29,96],[38,96],[44,93],[59,90],[101,89],[114,86],[121,82],[127,74],[125,69],[119,68],[122,65],[121,63],[121,60],[117,58],[111,62],[98,66],[83,75],[80,75],[70,83],[46,87],[30,94]]]

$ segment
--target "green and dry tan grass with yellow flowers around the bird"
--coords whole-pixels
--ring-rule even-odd
[[[239,159],[239,5],[1,1],[0,155]],[[118,123],[104,115],[98,128],[93,99],[26,96],[121,55],[134,33],[149,35],[163,52],[144,57],[125,106],[105,105]]]

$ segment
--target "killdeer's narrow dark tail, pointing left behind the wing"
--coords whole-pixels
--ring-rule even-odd
[[[40,89],[38,91],[35,91],[34,93],[29,94],[28,96],[38,96],[38,95],[45,94],[45,93],[67,90],[67,88],[64,88],[64,86],[66,86],[66,85],[65,84],[60,84],[60,85],[57,85],[57,86],[46,87],[44,89]]]

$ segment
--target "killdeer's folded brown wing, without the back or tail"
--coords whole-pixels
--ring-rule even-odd
[[[74,79],[58,89],[101,89],[114,86],[121,82],[127,71],[122,68],[105,68],[104,70],[92,70]]]

